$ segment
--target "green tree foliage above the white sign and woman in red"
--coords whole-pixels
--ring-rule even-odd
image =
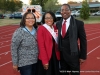
[[[66,1],[67,2],[67,1]],[[58,0],[31,0],[31,5],[41,5],[43,11],[56,11],[60,8]]]

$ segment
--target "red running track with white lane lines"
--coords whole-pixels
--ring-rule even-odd
[[[0,75],[19,75],[13,71],[10,44],[18,25],[0,27]],[[81,75],[100,75],[100,24],[85,25],[88,41],[87,60],[81,65]]]

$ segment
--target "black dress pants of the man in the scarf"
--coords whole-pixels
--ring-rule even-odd
[[[67,57],[65,57],[67,60]],[[80,75],[80,63],[79,61],[74,61],[75,59],[68,59],[66,61],[61,54],[61,60],[60,60],[60,74],[61,75]],[[69,61],[72,60],[72,61]]]

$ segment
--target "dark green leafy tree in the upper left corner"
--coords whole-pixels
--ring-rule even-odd
[[[14,0],[0,0],[0,10],[3,13],[7,11],[14,12],[18,11],[22,8],[23,2],[22,1],[14,1]]]

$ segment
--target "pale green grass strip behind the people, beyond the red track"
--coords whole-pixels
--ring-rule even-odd
[[[79,17],[76,17],[79,20]],[[5,18],[5,19],[0,19],[0,26],[4,26],[4,25],[10,25],[10,24],[19,24],[21,21],[21,19],[9,19],[9,18]],[[100,23],[100,16],[91,16],[89,19],[87,20],[82,20],[85,24],[93,24],[93,23]]]

